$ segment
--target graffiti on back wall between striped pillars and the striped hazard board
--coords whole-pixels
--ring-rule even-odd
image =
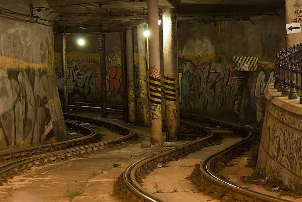
[[[216,113],[231,109],[239,113],[241,72],[233,71],[230,63],[215,56],[189,55],[179,60],[181,108]]]

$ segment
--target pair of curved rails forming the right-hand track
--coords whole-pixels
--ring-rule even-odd
[[[252,127],[243,127],[236,124],[230,124],[224,121],[211,120],[207,118],[197,117],[196,115],[181,114],[186,119],[192,119],[195,122],[207,122],[228,128],[235,131],[238,135],[242,135],[243,140],[228,146],[226,149],[210,156],[201,164],[194,168],[193,180],[201,190],[211,194],[213,198],[227,201],[245,201],[245,202],[289,202],[273,196],[260,194],[250,191],[242,187],[233,185],[216,176],[218,164],[221,159],[230,161],[234,155],[246,151],[251,144],[251,138],[256,133]],[[212,129],[207,127],[208,135],[197,140],[193,140],[175,149],[165,151],[154,155],[150,158],[144,158],[130,165],[125,172],[119,177],[114,186],[114,192],[123,200],[132,200],[139,202],[163,202],[152,193],[148,193],[142,186],[142,179],[146,177],[146,173],[157,168],[158,164],[166,164],[169,161],[178,160],[180,156],[187,156],[189,153],[200,150],[201,147],[213,141],[216,137],[212,133]],[[174,158],[177,157],[177,158]],[[226,163],[226,162],[224,162]]]

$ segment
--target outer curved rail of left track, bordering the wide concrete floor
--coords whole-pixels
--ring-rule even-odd
[[[86,122],[93,122],[97,123],[99,125],[105,126],[106,128],[109,128],[113,131],[118,132],[120,135],[123,135],[122,137],[118,137],[115,139],[97,142],[89,145],[79,146],[75,148],[50,152],[46,154],[41,154],[25,159],[21,159],[18,161],[14,161],[12,163],[0,166],[0,184],[2,181],[5,181],[7,178],[11,177],[12,175],[18,174],[19,171],[22,171],[26,168],[31,168],[32,166],[39,165],[39,164],[45,164],[45,163],[51,163],[56,160],[64,160],[68,159],[73,156],[78,156],[80,154],[86,154],[91,152],[96,152],[98,150],[103,150],[111,145],[118,144],[120,142],[123,142],[128,139],[132,139],[136,136],[135,132],[131,129],[128,129],[124,126],[121,126],[119,124],[111,123],[105,120],[98,120],[93,119],[89,117],[81,117],[78,115],[73,114],[64,114],[66,117],[74,117],[77,119],[83,119]]]

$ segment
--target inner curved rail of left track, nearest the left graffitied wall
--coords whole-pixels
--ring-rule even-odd
[[[0,162],[3,162],[5,160],[7,161],[12,158],[19,158],[22,156],[32,155],[40,152],[49,152],[54,149],[80,144],[85,142],[86,140],[92,139],[93,137],[95,137],[95,135],[97,135],[97,133],[94,130],[87,128],[85,126],[81,126],[69,121],[65,121],[65,123],[68,125],[72,125],[74,128],[80,129],[81,131],[84,131],[84,133],[88,135],[76,139],[67,140],[67,141],[55,142],[50,144],[40,144],[40,145],[15,148],[15,149],[13,148],[10,150],[0,151]]]

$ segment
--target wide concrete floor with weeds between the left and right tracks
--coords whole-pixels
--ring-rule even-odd
[[[112,121],[121,123],[117,119]],[[150,141],[150,128],[128,127],[140,136],[138,142],[33,168],[0,188],[0,202],[118,202],[112,195],[113,182],[125,168],[141,158],[169,149],[141,148],[142,142]],[[120,166],[113,168],[113,164]]]

